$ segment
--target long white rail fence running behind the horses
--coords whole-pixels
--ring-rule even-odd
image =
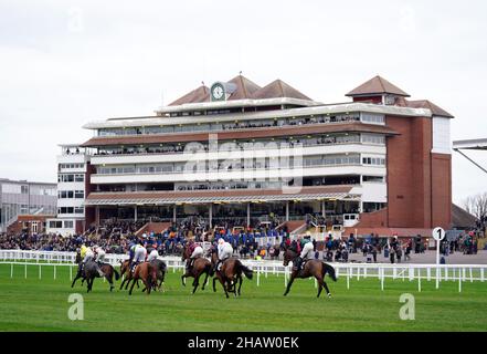
[[[39,279],[42,279],[42,268],[52,267],[53,278],[56,279],[59,267],[70,268],[70,279],[73,279],[73,269],[76,253],[55,251],[22,251],[0,250],[0,264],[10,264],[10,278],[14,275],[14,268],[22,267],[24,278],[28,278],[28,267],[39,268]],[[119,266],[127,254],[107,254],[106,262]],[[179,257],[159,257],[174,273],[183,270],[186,264]],[[266,279],[269,274],[284,278],[284,287],[287,287],[292,266],[284,267],[279,261],[242,260],[242,263],[254,270],[256,284],[261,285],[261,278]],[[385,279],[417,282],[417,291],[422,291],[422,282],[435,281],[436,289],[441,282],[458,282],[458,292],[462,292],[464,282],[485,282],[487,264],[383,264],[383,263],[329,263],[336,270],[337,278],[345,278],[347,289],[350,289],[351,280],[378,279],[381,290],[385,289]],[[0,274],[1,277],[1,274]],[[311,278],[309,280],[313,280]],[[315,280],[315,287],[317,282]]]

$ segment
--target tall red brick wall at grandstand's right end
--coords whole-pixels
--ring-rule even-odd
[[[452,157],[433,154],[430,117],[388,116],[401,135],[388,138],[388,227],[448,229]]]

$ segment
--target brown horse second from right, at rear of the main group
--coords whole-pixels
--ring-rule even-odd
[[[226,298],[229,298],[229,292],[233,292],[235,296],[240,295],[243,282],[242,273],[244,273],[247,279],[252,279],[252,275],[254,273],[253,270],[242,264],[242,262],[237,258],[231,257],[223,262],[220,270],[214,271],[214,267],[219,261],[216,248],[213,247],[212,249],[210,249],[210,254],[212,266],[210,275],[213,275],[213,273],[215,274],[215,278],[213,278],[213,291],[216,291],[218,279],[222,284],[223,290],[225,291]],[[236,290],[237,282],[239,290]]]

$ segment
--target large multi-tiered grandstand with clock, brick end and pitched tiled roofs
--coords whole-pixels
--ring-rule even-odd
[[[347,96],[324,104],[239,75],[152,116],[86,124],[86,227],[198,216],[384,236],[449,228],[453,116],[380,76]]]

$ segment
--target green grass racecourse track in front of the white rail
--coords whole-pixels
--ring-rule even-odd
[[[147,296],[135,290],[108,292],[108,283],[97,279],[93,293],[70,285],[67,268],[14,268],[0,266],[0,331],[487,331],[487,282],[463,283],[385,280],[380,290],[377,279],[353,279],[347,290],[345,278],[328,281],[331,299],[316,299],[310,280],[296,280],[283,296],[283,277],[244,280],[241,298],[225,299],[221,288],[190,294],[180,284],[180,274],[169,271],[165,293]],[[119,281],[116,284],[119,285]],[[136,289],[136,288],[135,288]],[[71,293],[84,296],[84,320],[67,317]],[[399,317],[400,295],[415,296],[415,320]],[[299,320],[297,320],[299,316]]]

